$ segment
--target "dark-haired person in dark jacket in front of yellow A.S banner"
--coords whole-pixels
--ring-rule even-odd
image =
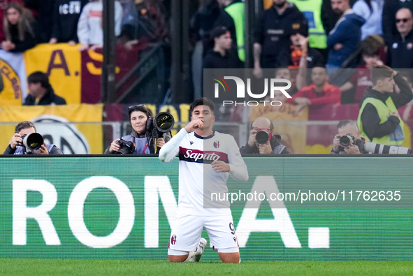
[[[31,73],[27,77],[29,84],[29,95],[24,100],[24,106],[48,106],[48,105],[64,105],[66,100],[57,96],[52,85],[50,85],[49,77],[41,71]]]

